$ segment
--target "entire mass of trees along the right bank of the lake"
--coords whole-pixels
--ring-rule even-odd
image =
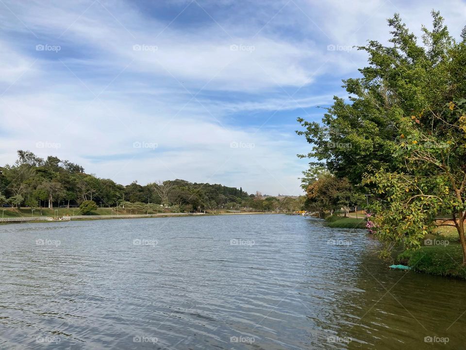
[[[457,229],[466,264],[466,27],[456,40],[432,15],[420,39],[390,18],[388,45],[358,47],[368,65],[344,81],[348,98],[334,97],[322,123],[298,119],[298,134],[313,144],[301,156],[313,160],[302,181],[309,208],[370,197],[386,257],[399,245],[419,247],[443,222]]]

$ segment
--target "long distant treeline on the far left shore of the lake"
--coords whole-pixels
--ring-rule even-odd
[[[185,180],[156,181],[123,186],[111,179],[86,174],[82,166],[49,156],[37,157],[30,151],[17,151],[13,165],[1,168],[0,205],[12,207],[77,207],[93,201],[98,207],[124,207],[125,210],[154,212],[160,207],[171,211],[216,209],[298,210],[292,198],[248,194],[242,188],[220,184],[191,183]],[[296,202],[296,203],[295,203]]]

